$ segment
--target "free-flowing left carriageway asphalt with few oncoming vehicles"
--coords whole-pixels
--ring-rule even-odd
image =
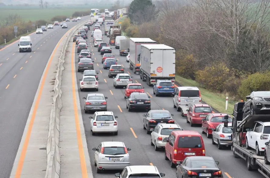
[[[87,18],[90,16],[81,20]],[[54,26],[43,34],[31,34],[31,53],[19,53],[19,42],[0,50],[1,178],[10,176],[34,96],[53,49],[61,37],[80,22],[67,22],[67,29]]]

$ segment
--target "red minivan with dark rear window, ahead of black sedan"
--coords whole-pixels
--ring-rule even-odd
[[[165,159],[171,161],[171,167],[187,156],[205,156],[203,138],[197,131],[172,131],[165,139]]]

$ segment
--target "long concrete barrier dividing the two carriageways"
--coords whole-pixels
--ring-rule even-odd
[[[57,65],[57,71],[55,76],[55,84],[54,84],[54,96],[52,98],[52,110],[50,114],[50,125],[49,125],[49,135],[47,141],[47,168],[45,178],[59,178],[60,176],[60,153],[59,153],[59,124],[60,124],[60,110],[62,109],[62,90],[61,90],[61,82],[62,82],[62,74],[65,69],[63,64],[65,63],[65,54],[67,50],[68,43],[70,42],[73,34],[88,20],[84,20],[78,25],[71,28],[63,37],[65,40],[63,43],[63,47],[61,49],[61,53],[59,56],[59,61]],[[64,36],[65,36],[64,35]],[[65,39],[66,38],[66,39]]]

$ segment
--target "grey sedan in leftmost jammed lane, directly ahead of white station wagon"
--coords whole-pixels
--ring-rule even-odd
[[[85,99],[85,113],[88,113],[88,111],[107,111],[106,99],[108,97],[105,97],[102,93],[87,94],[83,99]]]

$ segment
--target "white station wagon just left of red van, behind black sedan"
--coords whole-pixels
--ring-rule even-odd
[[[184,130],[178,124],[157,124],[151,133],[151,145],[155,146],[155,150],[159,151],[160,148],[165,148],[167,138],[169,138],[172,131]],[[164,140],[165,138],[165,140]]]

